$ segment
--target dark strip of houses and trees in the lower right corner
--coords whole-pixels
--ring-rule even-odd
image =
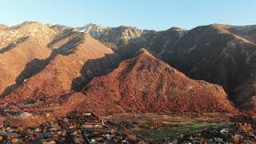
[[[198,132],[198,134],[183,135],[178,138],[172,138],[156,143],[172,143],[172,144],[211,144],[211,143],[256,143],[256,131],[251,129],[250,124],[232,124],[230,126],[219,126],[210,130]]]

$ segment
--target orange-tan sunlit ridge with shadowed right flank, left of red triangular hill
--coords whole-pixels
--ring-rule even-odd
[[[70,90],[81,90],[95,76],[105,74],[118,64],[118,54],[91,38],[88,34],[76,33],[79,37],[60,38],[50,45],[62,46],[53,50],[50,62],[38,74],[28,78],[22,86],[7,95],[2,102],[26,102],[54,98]],[[81,38],[81,39],[80,39]],[[33,65],[32,65],[33,66]],[[28,68],[30,69],[30,68]]]

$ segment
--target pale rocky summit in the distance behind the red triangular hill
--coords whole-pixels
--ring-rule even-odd
[[[106,46],[121,54],[123,58],[130,58],[142,46],[150,44],[158,32],[154,30],[139,30],[132,26],[107,27],[90,24],[78,28],[99,39]]]

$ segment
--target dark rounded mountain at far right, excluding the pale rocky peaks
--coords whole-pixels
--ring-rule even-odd
[[[167,46],[162,58],[191,78],[222,85],[230,99],[240,105],[252,95],[234,90],[254,74],[255,54],[254,42],[231,33],[230,26],[210,25],[187,32],[178,42]]]

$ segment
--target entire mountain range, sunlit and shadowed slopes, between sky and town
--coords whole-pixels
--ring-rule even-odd
[[[15,112],[254,112],[255,64],[256,26],[0,25],[0,103]]]

